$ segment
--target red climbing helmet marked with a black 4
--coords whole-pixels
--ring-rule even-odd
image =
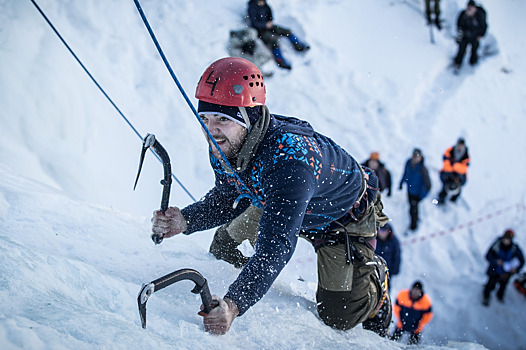
[[[195,97],[223,106],[262,106],[265,104],[263,75],[244,58],[221,58],[205,70],[197,83]]]

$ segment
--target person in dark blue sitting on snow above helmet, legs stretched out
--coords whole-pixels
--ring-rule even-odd
[[[287,37],[296,51],[307,51],[309,45],[302,42],[290,29],[273,23],[272,10],[266,0],[250,0],[248,2],[248,18],[252,27],[256,28],[263,42],[272,50],[277,65],[291,69],[291,64],[283,57],[279,46],[279,38]]]

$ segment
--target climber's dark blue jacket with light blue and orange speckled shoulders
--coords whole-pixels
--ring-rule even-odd
[[[252,203],[244,198],[233,208],[246,190],[211,154],[215,187],[182,210],[190,234],[230,222],[250,204],[263,209],[255,253],[225,296],[236,302],[240,315],[268,291],[292,257],[300,231],[324,232],[362,191],[359,164],[334,141],[306,121],[270,118],[250,166],[238,173],[252,192]]]

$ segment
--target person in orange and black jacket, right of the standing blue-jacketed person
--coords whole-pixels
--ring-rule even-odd
[[[459,138],[455,146],[449,147],[444,152],[443,160],[444,165],[440,170],[442,191],[438,194],[438,204],[444,204],[448,195],[450,200],[455,202],[460,196],[462,186],[466,183],[469,166],[466,141]]]

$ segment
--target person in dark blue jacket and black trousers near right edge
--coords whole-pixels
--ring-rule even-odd
[[[515,232],[507,229],[502,237],[499,237],[489,248],[486,253],[486,260],[489,261],[489,267],[486,274],[489,276],[488,282],[484,287],[482,304],[489,305],[491,291],[495,289],[497,283],[497,299],[504,302],[504,292],[511,276],[524,266],[524,255],[521,248],[513,243]]]

